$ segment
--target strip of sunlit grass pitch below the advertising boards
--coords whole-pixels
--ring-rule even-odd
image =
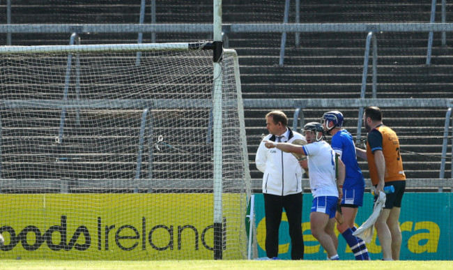
[[[452,261],[77,261],[77,260],[1,260],[0,269],[453,269]]]

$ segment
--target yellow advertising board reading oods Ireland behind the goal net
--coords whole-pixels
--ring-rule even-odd
[[[213,259],[212,194],[0,195],[0,203],[3,258]],[[224,224],[243,224],[238,210],[224,211]],[[240,231],[224,234],[225,250],[245,237]]]

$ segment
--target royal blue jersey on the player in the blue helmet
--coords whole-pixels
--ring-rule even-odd
[[[332,136],[332,149],[340,155],[346,167],[346,177],[344,177],[343,188],[355,189],[365,188],[362,170],[360,170],[355,153],[353,136],[348,130],[342,129]]]

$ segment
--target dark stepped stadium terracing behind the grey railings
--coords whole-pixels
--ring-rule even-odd
[[[139,21],[137,1],[121,1],[112,5],[105,1],[86,4],[47,5],[54,1],[14,1],[12,23],[15,24],[98,24]],[[98,2],[98,3],[97,3]],[[224,24],[279,23],[283,20],[284,1],[266,6],[266,1],[231,0],[223,3]],[[332,22],[429,22],[431,1],[302,1],[300,20],[304,23]],[[210,23],[211,1],[187,1],[178,6],[171,0],[158,6],[160,23]],[[291,3],[293,8],[293,3]],[[447,13],[453,4],[447,4]],[[6,14],[1,3],[0,14]],[[289,21],[294,22],[294,13]],[[3,20],[4,21],[4,20]],[[146,15],[146,22],[150,18]],[[67,44],[70,34],[13,34],[13,45]],[[360,98],[364,45],[367,33],[303,33],[300,46],[295,47],[294,33],[288,33],[284,66],[279,66],[280,33],[231,33],[229,47],[238,51],[243,98]],[[427,33],[378,33],[378,98],[453,98],[453,48],[451,34],[447,46],[440,44],[440,33],[435,33],[433,59],[427,66]],[[158,34],[157,42],[198,41],[212,38],[206,34]],[[150,34],[144,35],[149,42]],[[6,44],[6,35],[0,36]],[[90,33],[82,35],[82,44],[137,43],[136,34]],[[367,80],[367,98],[371,98],[371,75]],[[261,173],[254,166],[254,155],[266,133],[263,119],[270,109],[245,108],[247,142],[254,187],[259,187]],[[345,114],[346,128],[356,132],[358,109],[332,108]],[[293,111],[286,110],[292,118]],[[323,109],[305,110],[307,121],[318,120]],[[445,108],[384,110],[384,123],[400,135],[401,150],[408,178],[438,178],[442,146]],[[56,115],[55,121],[58,121]],[[292,119],[290,125],[292,124]],[[414,152],[414,153],[410,153]],[[427,155],[427,156],[423,156]],[[367,166],[360,165],[367,177]],[[449,175],[451,168],[447,167]],[[257,191],[257,190],[256,190]]]

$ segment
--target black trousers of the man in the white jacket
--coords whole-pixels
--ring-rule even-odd
[[[291,237],[291,259],[304,258],[304,239],[302,238],[302,193],[278,196],[264,193],[266,213],[266,255],[278,256],[278,231],[282,221],[283,209],[286,211]]]

